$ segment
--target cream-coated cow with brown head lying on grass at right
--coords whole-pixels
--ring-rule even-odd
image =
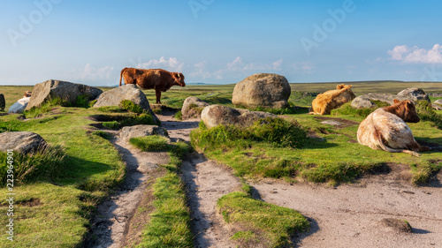
[[[413,101],[394,99],[392,106],[376,109],[362,121],[357,132],[358,142],[375,150],[419,156],[416,152],[429,151],[430,147],[417,144],[405,122],[420,120]]]

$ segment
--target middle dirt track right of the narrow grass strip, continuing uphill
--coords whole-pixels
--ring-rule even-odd
[[[177,122],[171,116],[159,116],[171,140],[189,141],[190,132],[198,127],[200,119]],[[187,186],[191,208],[192,228],[196,247],[236,247],[232,236],[217,214],[217,199],[240,188],[240,180],[229,169],[208,161],[194,152],[181,165],[181,177]]]

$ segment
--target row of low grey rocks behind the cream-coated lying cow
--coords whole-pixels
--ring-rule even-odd
[[[428,101],[430,98],[423,92],[422,88],[408,88],[401,91],[399,94],[362,94],[352,101],[352,107],[355,109],[362,108],[376,108],[377,105],[373,101],[382,101],[393,104],[393,99],[399,101],[411,100],[411,101]]]

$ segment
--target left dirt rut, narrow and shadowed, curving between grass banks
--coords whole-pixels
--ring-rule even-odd
[[[125,244],[129,224],[146,191],[149,172],[158,164],[169,161],[167,153],[145,153],[131,147],[118,132],[113,132],[112,144],[126,162],[126,179],[110,199],[97,207],[98,214],[92,220],[91,229],[96,237],[86,247],[121,247]]]

